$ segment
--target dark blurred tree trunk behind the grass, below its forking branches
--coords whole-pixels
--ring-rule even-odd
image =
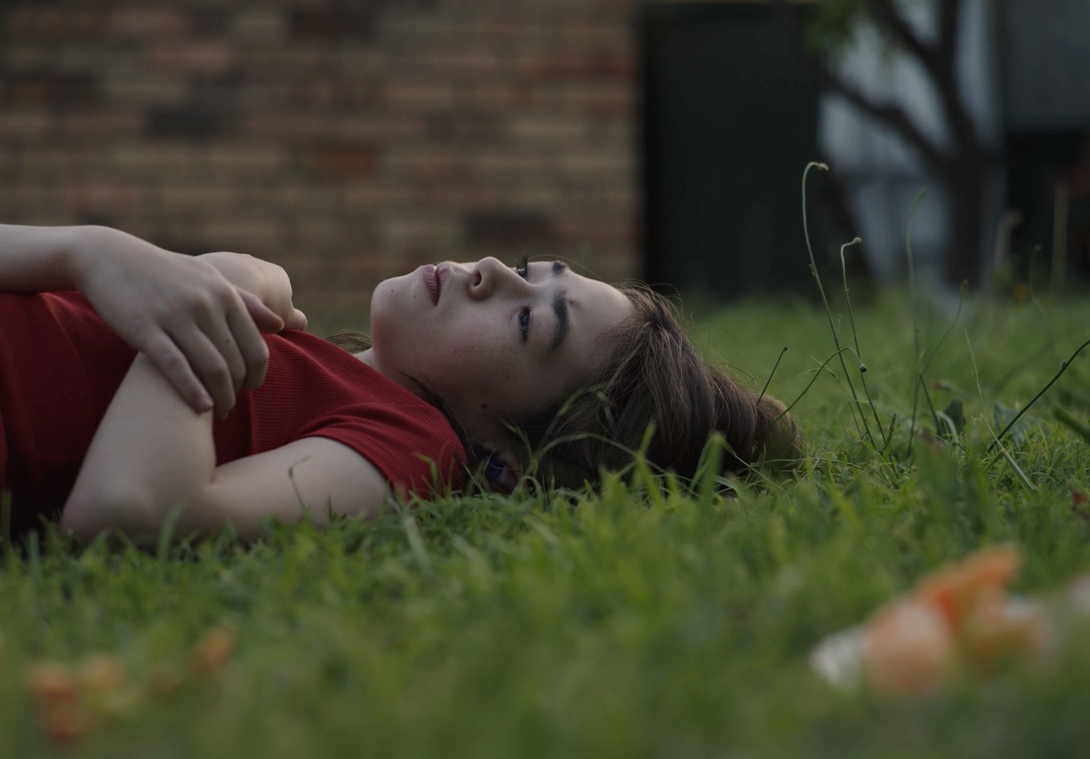
[[[940,177],[949,192],[953,212],[946,280],[952,287],[960,287],[964,280],[976,287],[981,274],[986,157],[982,152],[964,149],[941,167]]]

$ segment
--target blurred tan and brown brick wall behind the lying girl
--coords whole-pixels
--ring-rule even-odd
[[[482,254],[639,274],[627,0],[0,8],[0,221],[253,253],[304,304]]]

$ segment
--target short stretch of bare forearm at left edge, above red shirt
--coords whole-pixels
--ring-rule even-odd
[[[0,292],[75,289],[80,241],[97,229],[0,225]]]

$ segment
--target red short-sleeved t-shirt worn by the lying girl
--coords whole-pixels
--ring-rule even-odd
[[[264,337],[265,382],[213,423],[217,466],[317,436],[398,492],[461,486],[465,451],[438,409],[314,335]],[[0,293],[0,490],[12,492],[13,527],[59,513],[135,356],[78,292]]]

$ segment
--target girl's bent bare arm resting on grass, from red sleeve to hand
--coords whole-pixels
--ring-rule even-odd
[[[155,545],[173,506],[175,535],[231,522],[245,539],[268,517],[325,523],[337,514],[376,516],[386,481],[341,443],[307,437],[216,467],[211,414],[189,408],[146,356],[118,388],[64,505],[61,528],[92,539],[110,528]]]

